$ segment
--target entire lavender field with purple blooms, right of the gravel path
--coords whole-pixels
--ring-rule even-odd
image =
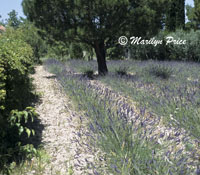
[[[94,174],[200,174],[200,66],[189,62],[47,60],[88,120]],[[87,75],[87,76],[86,76]],[[98,162],[106,166],[100,166]]]

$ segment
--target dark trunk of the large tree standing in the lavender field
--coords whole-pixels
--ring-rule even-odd
[[[98,73],[99,75],[106,75],[108,68],[106,65],[106,50],[104,41],[96,41],[94,43],[94,49],[97,56]]]

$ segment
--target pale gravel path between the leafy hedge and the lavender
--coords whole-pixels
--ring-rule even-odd
[[[93,155],[84,148],[86,139],[80,137],[84,131],[83,119],[80,120],[80,114],[73,110],[55,75],[45,71],[43,66],[37,66],[33,79],[36,91],[41,96],[36,111],[45,126],[42,143],[50,156],[41,174],[85,175],[86,161],[92,160]]]

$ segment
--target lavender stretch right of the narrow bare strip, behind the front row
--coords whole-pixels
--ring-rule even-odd
[[[110,62],[109,67],[112,66]],[[114,62],[117,64],[117,62]],[[165,67],[163,74],[167,81],[154,78],[146,70],[158,65]],[[107,76],[100,80],[114,90],[131,97],[139,106],[145,106],[169,124],[175,124],[170,116],[178,120],[179,126],[185,128],[196,138],[200,138],[199,98],[200,67],[198,63],[184,62],[132,62],[130,71],[136,78]],[[173,71],[171,71],[173,70]],[[156,70],[162,74],[162,70]]]

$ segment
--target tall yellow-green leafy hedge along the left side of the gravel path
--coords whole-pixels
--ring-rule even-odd
[[[30,107],[35,98],[29,73],[33,51],[14,29],[0,34],[0,174],[9,174],[9,164],[20,162],[35,151],[29,144],[34,134],[30,123],[36,117]]]

